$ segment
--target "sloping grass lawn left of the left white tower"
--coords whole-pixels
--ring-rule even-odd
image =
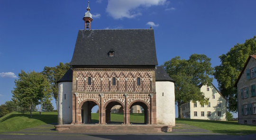
[[[35,127],[46,123],[57,122],[57,112],[33,112],[32,118],[30,113],[21,114],[12,112],[0,118],[0,132],[18,131],[25,128]]]

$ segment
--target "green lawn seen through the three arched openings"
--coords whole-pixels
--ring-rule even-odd
[[[124,122],[124,114],[111,114],[110,116],[111,122]],[[93,123],[99,122],[99,114],[91,113],[91,121]],[[131,123],[144,123],[144,114],[130,114],[130,122]]]

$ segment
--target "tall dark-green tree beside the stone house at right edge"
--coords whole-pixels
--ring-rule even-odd
[[[228,53],[220,55],[221,64],[214,68],[214,78],[219,83],[219,91],[227,98],[228,109],[231,112],[238,111],[237,89],[234,87],[235,82],[249,55],[255,53],[256,36],[246,40],[244,44],[236,44]]]

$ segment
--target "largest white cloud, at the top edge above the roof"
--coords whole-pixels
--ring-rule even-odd
[[[134,18],[142,15],[136,8],[164,5],[166,0],[109,0],[106,11],[114,19]]]

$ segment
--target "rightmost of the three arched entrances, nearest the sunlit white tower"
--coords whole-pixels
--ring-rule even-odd
[[[137,111],[135,111],[134,113],[131,111],[133,106],[139,106],[141,108],[142,114],[138,113]],[[133,101],[130,105],[129,105],[129,109],[130,109],[130,123],[132,124],[149,124],[149,105],[143,101],[143,100],[136,100]],[[144,118],[144,120],[141,120],[142,118]]]

